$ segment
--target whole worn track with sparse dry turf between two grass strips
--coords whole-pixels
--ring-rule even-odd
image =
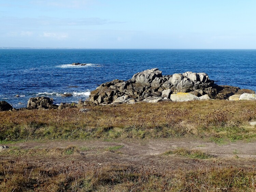
[[[234,142],[218,145],[213,142],[205,142],[194,138],[179,139],[154,139],[136,140],[131,139],[122,142],[106,142],[99,140],[91,141],[51,141],[51,142],[23,142],[9,144],[9,147],[18,147],[25,150],[19,157],[22,161],[38,166],[54,167],[55,165],[66,166],[71,161],[87,165],[113,165],[126,164],[137,167],[165,167],[168,169],[201,168],[221,163],[222,166],[237,166],[252,168],[256,165],[256,142]],[[72,155],[63,155],[58,150],[68,146],[76,146],[80,152]],[[120,146],[111,150],[110,147]],[[164,152],[184,148],[188,150],[200,150],[214,155],[210,159],[195,159],[180,155],[163,155]],[[44,152],[42,152],[44,151]],[[46,153],[45,153],[46,151]],[[57,151],[57,152],[56,152]],[[17,158],[17,156],[15,157]],[[0,161],[13,160],[12,155],[0,156]],[[215,165],[214,165],[215,166]]]

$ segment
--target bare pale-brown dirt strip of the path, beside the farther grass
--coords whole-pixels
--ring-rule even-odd
[[[196,149],[203,152],[213,154],[217,157],[256,157],[256,142],[246,143],[242,141],[232,142],[224,145],[218,145],[213,142],[205,142],[198,139],[154,139],[154,140],[130,140],[123,142],[106,142],[99,140],[90,141],[50,141],[47,143],[41,142],[23,142],[9,144],[9,146],[20,147],[22,149],[53,149],[66,148],[68,146],[88,147],[92,150],[105,149],[106,147],[114,147],[123,145],[119,149],[123,154],[129,156],[148,156],[159,155],[168,150],[177,148]]]

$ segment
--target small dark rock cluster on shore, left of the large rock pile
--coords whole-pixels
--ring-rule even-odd
[[[28,109],[48,109],[48,108],[58,108],[58,105],[53,104],[53,99],[48,97],[32,97],[29,98]]]

